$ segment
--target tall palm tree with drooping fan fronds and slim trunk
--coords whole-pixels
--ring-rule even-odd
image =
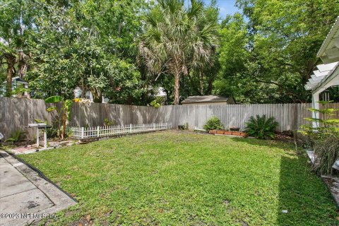
[[[217,41],[215,23],[208,21],[202,1],[160,0],[145,19],[139,54],[150,73],[174,76],[174,105],[179,104],[179,81],[190,69],[213,64]]]

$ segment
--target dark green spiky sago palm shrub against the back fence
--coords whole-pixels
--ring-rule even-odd
[[[275,137],[275,128],[278,126],[278,121],[274,117],[266,117],[266,114],[251,116],[246,122],[246,134],[254,136],[258,139],[268,139]]]

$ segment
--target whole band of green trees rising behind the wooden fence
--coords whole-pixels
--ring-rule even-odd
[[[339,2],[237,6],[242,13],[220,20],[215,0],[0,0],[0,94],[20,76],[38,98],[71,98],[79,87],[95,102],[148,105],[162,87],[167,104],[210,94],[309,102],[304,84]]]

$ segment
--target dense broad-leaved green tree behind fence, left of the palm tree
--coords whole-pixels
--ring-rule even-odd
[[[40,5],[39,32],[30,43],[33,88],[68,98],[79,86],[83,95],[90,91],[95,102],[101,102],[103,95],[112,102],[140,102],[143,88],[133,65],[134,40],[141,30],[145,1],[42,1]]]

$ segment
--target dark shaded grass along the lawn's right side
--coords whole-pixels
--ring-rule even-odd
[[[311,171],[307,157],[293,151],[293,143],[249,138],[232,140],[286,150],[280,157],[276,225],[339,225],[335,220],[338,208],[327,186]]]

